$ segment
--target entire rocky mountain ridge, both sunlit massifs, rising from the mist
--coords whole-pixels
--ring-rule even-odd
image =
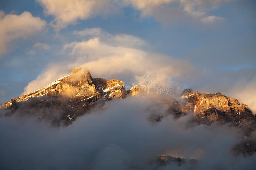
[[[49,120],[53,126],[69,125],[77,117],[90,113],[92,108],[100,108],[105,101],[123,99],[127,95],[139,96],[140,88],[136,85],[125,91],[123,81],[92,78],[89,71],[79,67],[72,69],[70,75],[61,77],[42,89],[10,99],[0,109],[5,116],[29,115],[38,120]],[[195,125],[229,123],[239,127],[244,137],[256,129],[256,117],[250,108],[221,93],[201,94],[185,89],[180,97],[170,101],[160,104],[167,105],[168,113],[176,118],[193,113],[191,121]],[[149,120],[159,122],[162,118],[163,116],[156,115]],[[236,146],[236,151],[252,154],[256,152],[256,142],[246,140]]]

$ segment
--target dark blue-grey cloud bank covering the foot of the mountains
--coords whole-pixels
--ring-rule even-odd
[[[0,117],[1,169],[250,169],[255,155],[234,156],[243,135],[228,125],[191,126],[192,115],[173,119],[148,98],[107,102],[73,124],[52,128],[16,115]],[[148,118],[164,115],[161,122]],[[189,127],[188,127],[189,126]],[[18,154],[19,153],[19,154]],[[157,166],[157,156],[194,158],[191,165]],[[42,161],[44,158],[44,161]],[[29,162],[29,163],[28,163]]]

